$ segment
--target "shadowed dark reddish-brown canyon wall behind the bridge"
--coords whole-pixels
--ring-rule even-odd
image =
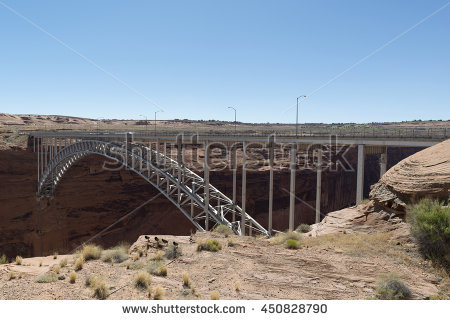
[[[388,168],[418,150],[390,148]],[[348,160],[355,165],[356,149],[348,152]],[[37,158],[32,148],[0,151],[0,254],[27,257],[69,252],[112,224],[94,242],[108,247],[121,241],[132,243],[141,234],[186,235],[194,231],[193,225],[151,185],[129,170],[102,170],[103,161],[94,155],[80,160],[65,174],[54,197],[38,202]],[[378,161],[378,156],[366,156],[366,197],[369,186],[379,179]],[[247,173],[247,212],[264,227],[268,215],[268,178],[267,170]],[[212,171],[210,179],[231,198],[230,170]],[[288,226],[289,179],[289,170],[280,169],[274,174],[276,230]],[[299,171],[296,195],[302,201],[296,202],[295,225],[314,222],[315,192],[316,172]],[[237,194],[240,203],[240,173]],[[153,197],[147,205],[115,223]],[[323,172],[323,214],[354,204],[355,197],[356,172]]]

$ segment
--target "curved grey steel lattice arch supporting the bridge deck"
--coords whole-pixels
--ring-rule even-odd
[[[242,235],[241,223],[245,221],[244,230],[249,230],[249,234],[269,236],[258,222],[210,185],[209,179],[205,182],[205,179],[181,163],[141,144],[122,145],[100,140],[81,140],[65,146],[46,165],[38,183],[37,196],[53,196],[65,172],[89,154],[117,161],[140,175],[169,199],[200,231],[208,230],[212,222],[213,227],[222,224],[235,234]]]

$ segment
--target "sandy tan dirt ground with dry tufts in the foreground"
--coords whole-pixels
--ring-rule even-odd
[[[163,287],[165,299],[210,299],[215,290],[220,299],[367,299],[375,295],[378,277],[388,272],[401,276],[413,299],[449,294],[448,278],[439,276],[413,244],[399,242],[389,233],[306,235],[298,250],[273,244],[269,239],[225,237],[215,232],[158,237],[169,243],[176,241],[182,249],[177,259],[164,260],[166,277],[153,276],[152,288]],[[154,245],[154,235],[149,238]],[[218,239],[222,250],[197,251],[197,242],[212,238]],[[141,236],[131,246],[130,257],[138,248],[146,248],[147,241]],[[230,241],[233,246],[228,245]],[[139,261],[146,265],[156,251],[151,247]],[[64,258],[69,262],[60,271],[64,280],[35,281]],[[0,299],[94,299],[93,290],[85,285],[86,278],[93,274],[106,279],[110,293],[107,299],[148,299],[146,291],[133,285],[140,270],[127,269],[130,260],[121,264],[88,261],[71,284],[68,275],[73,261],[73,255],[56,259],[49,256],[23,259],[22,265],[0,265]],[[11,271],[16,278],[8,280]],[[183,287],[184,272],[189,274],[198,296]]]

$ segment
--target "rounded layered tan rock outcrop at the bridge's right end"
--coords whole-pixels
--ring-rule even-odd
[[[424,197],[448,203],[450,186],[450,140],[424,149],[393,166],[372,186],[370,199],[404,213],[408,204]]]

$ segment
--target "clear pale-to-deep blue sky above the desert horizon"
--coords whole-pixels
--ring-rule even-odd
[[[295,122],[448,1],[0,0],[0,112]],[[5,4],[136,90],[86,62]],[[143,95],[143,96],[142,96]],[[300,122],[450,118],[450,5]]]

